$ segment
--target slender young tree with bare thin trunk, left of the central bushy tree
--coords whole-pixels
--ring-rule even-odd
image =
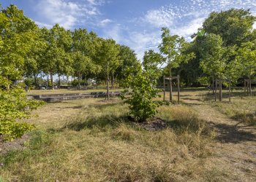
[[[101,42],[99,50],[97,52],[97,59],[100,65],[105,69],[102,69],[103,74],[107,80],[107,96],[109,100],[109,82],[110,74],[116,71],[120,64],[119,58],[119,46],[113,39],[106,39]]]

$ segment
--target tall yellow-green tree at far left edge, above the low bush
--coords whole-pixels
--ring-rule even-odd
[[[33,46],[37,25],[15,5],[1,9],[0,17],[1,41],[4,45],[0,50],[0,73],[6,79],[15,81],[23,76],[25,55]]]

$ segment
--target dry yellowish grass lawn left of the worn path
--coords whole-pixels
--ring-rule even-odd
[[[127,121],[128,107],[113,99],[47,103],[28,122],[21,151],[0,157],[3,181],[206,181],[214,133],[188,106],[161,106],[169,127],[144,130]],[[219,175],[214,175],[218,173]]]

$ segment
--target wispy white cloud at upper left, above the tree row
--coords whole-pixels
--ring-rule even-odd
[[[73,28],[80,21],[99,15],[97,5],[95,0],[91,0],[89,4],[67,0],[40,0],[34,10],[39,15],[41,24],[59,23],[64,28]]]

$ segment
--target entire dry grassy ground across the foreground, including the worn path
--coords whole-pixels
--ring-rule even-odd
[[[182,90],[180,105],[159,107],[157,118],[167,122],[159,131],[130,124],[128,108],[118,98],[48,103],[27,121],[37,130],[22,141],[22,151],[1,155],[1,178],[256,181],[255,126],[236,117],[242,109],[232,109],[250,103],[246,113],[251,116],[255,97],[236,96],[233,103],[227,98],[215,103],[211,97],[206,90]]]

